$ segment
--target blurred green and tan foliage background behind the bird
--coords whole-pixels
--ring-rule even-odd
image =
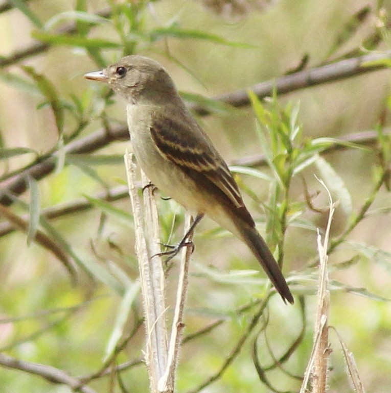
[[[88,386],[97,392],[148,390],[140,362],[145,339],[142,305],[139,298],[130,303],[125,297],[138,277],[122,159],[131,144],[121,134],[93,153],[67,152],[69,143],[87,143],[85,138],[97,130],[110,135],[126,128],[123,103],[107,87],[84,80],[83,74],[137,53],[162,62],[189,105],[203,105],[212,112],[198,120],[226,161],[239,164],[233,170],[247,206],[268,243],[277,246],[276,255],[284,260],[283,270],[296,297],[295,306],[286,306],[272,296],[233,363],[202,391],[270,391],[254,366],[254,346],[260,364],[267,367],[273,364],[269,349],[279,359],[297,337],[283,369],[272,367],[266,378],[275,391],[300,388],[316,315],[315,229],[325,228],[328,215],[327,195],[314,174],[339,201],[332,229],[335,248],[329,259],[330,324],[354,354],[366,390],[389,391],[389,58],[376,72],[262,102],[252,97],[252,106],[228,108],[202,97],[282,77],[306,56],[304,66],[311,68],[343,56],[386,51],[391,7],[375,1],[281,0],[260,11],[259,3],[241,4],[247,6],[243,14],[232,15],[216,14],[197,1],[178,0],[32,0],[0,5],[0,191],[45,158],[56,166],[42,179],[24,177],[29,190],[4,207],[8,215],[1,214],[2,354],[56,367],[79,382],[92,379]],[[365,6],[367,12],[355,18]],[[378,40],[369,40],[372,37]],[[23,54],[25,48],[31,51]],[[353,140],[367,131],[372,131],[372,139],[365,146],[345,144],[323,154],[332,142],[321,138]],[[244,159],[254,163],[251,158],[261,153],[268,165],[251,164],[251,170],[241,165]],[[102,195],[110,189],[119,189],[121,198],[105,201]],[[315,211],[309,201],[323,210]],[[79,202],[89,207],[78,210]],[[44,209],[62,204],[72,212],[56,218],[42,215]],[[162,239],[169,240],[174,227],[170,241],[175,242],[182,233],[183,211],[173,201],[158,204]],[[25,217],[27,226],[8,233],[15,217]],[[52,243],[42,247],[34,240],[37,230],[62,251],[61,260],[53,254]],[[249,251],[208,219],[198,228],[195,244],[188,341],[177,375],[177,390],[186,392],[198,391],[197,386],[221,370],[267,294],[266,280],[254,274],[258,266]],[[76,282],[68,269],[75,269]],[[170,304],[175,273],[174,266],[167,294]],[[124,310],[128,316],[122,326],[119,316]],[[217,322],[209,332],[188,337]],[[118,330],[118,345],[123,346],[113,353],[110,337]],[[330,340],[330,391],[352,391],[332,331]],[[123,370],[97,376],[105,359]],[[12,370],[2,361],[4,392],[76,389]]]

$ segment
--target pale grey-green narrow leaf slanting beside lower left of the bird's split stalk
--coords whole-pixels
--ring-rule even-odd
[[[116,350],[118,342],[120,341],[123,333],[125,324],[128,320],[130,309],[139,294],[141,289],[140,281],[131,283],[126,290],[117,313],[116,322],[114,323],[113,330],[110,334],[110,338],[107,342],[106,353],[103,361],[105,362]]]

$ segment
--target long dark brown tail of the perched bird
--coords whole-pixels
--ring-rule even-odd
[[[275,289],[277,289],[280,293],[284,302],[287,300],[289,303],[293,304],[294,300],[292,293],[290,292],[288,284],[281,273],[280,266],[275,261],[265,243],[265,240],[263,240],[257,229],[243,222],[237,223],[237,229],[241,234],[242,240],[256,256],[258,262],[261,264],[270,281],[275,286]]]

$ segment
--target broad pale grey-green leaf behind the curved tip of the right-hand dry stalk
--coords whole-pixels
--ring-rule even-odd
[[[343,180],[323,157],[317,156],[314,164],[319,170],[321,180],[325,182],[327,188],[330,190],[333,199],[339,201],[340,207],[349,217],[353,211],[353,202],[352,196],[343,183]]]

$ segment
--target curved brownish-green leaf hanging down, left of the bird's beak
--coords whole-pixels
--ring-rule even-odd
[[[36,82],[38,89],[41,93],[47,98],[50,106],[52,107],[52,111],[54,117],[56,119],[56,125],[58,134],[62,134],[63,126],[64,126],[64,113],[63,108],[57,93],[57,90],[53,83],[46,78],[44,75],[35,72],[33,67],[22,65],[21,68]]]

